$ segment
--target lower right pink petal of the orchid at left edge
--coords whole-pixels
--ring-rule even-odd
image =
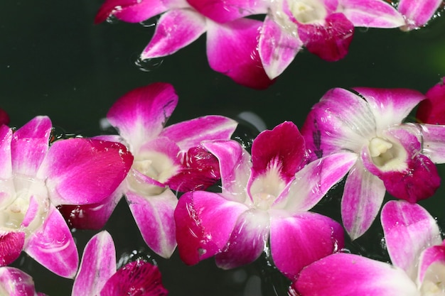
[[[27,239],[24,250],[56,275],[74,278],[79,257],[70,229],[53,205],[43,226]]]

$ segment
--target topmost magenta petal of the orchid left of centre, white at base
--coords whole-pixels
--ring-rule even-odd
[[[152,83],[133,89],[113,104],[107,114],[109,123],[119,130],[137,151],[142,143],[155,138],[178,104],[178,95],[167,83]]]

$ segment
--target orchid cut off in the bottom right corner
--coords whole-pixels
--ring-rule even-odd
[[[304,268],[293,287],[301,296],[445,295],[445,241],[418,204],[390,201],[382,226],[393,265],[336,253]]]

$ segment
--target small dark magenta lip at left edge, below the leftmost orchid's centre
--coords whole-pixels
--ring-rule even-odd
[[[0,266],[13,263],[20,256],[24,243],[24,232],[11,231],[0,234]]]

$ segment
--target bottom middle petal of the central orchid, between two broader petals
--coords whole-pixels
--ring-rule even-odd
[[[262,210],[243,212],[223,250],[215,255],[219,268],[230,269],[257,260],[269,239],[269,214]]]

